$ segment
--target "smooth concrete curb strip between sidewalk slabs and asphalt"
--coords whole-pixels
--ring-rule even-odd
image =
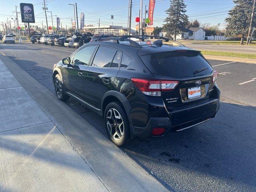
[[[10,58],[0,55],[0,59],[109,191],[172,190],[146,172]]]

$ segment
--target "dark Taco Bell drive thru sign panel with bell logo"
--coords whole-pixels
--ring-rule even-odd
[[[23,23],[35,23],[34,6],[30,3],[20,4],[21,20]]]

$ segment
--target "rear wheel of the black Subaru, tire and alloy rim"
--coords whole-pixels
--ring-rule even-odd
[[[119,102],[110,102],[104,111],[104,123],[108,137],[117,146],[130,142],[130,128],[125,110]]]

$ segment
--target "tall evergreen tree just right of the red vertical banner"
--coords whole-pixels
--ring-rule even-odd
[[[167,37],[171,38],[174,36],[174,40],[176,40],[176,36],[182,34],[188,25],[184,0],[170,0],[170,8],[165,12],[168,16],[164,20],[163,30],[167,32]]]

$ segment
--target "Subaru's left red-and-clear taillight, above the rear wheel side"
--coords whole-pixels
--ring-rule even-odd
[[[171,91],[178,85],[178,81],[153,80],[153,79],[131,79],[134,85],[146,95],[161,96],[162,91]]]

